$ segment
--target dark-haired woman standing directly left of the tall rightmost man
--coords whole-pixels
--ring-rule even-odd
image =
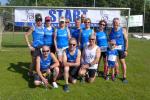
[[[108,39],[107,39],[107,34],[105,32],[106,26],[107,26],[107,23],[105,20],[99,21],[99,28],[98,28],[98,31],[96,32],[97,45],[101,49],[101,57],[100,57],[100,61],[99,61],[99,66],[100,66],[101,59],[103,58],[104,77],[106,77],[106,73],[107,73],[107,56],[106,56],[106,53],[107,53],[107,49],[108,49]],[[98,70],[99,70],[99,66],[98,66]],[[98,73],[98,75],[99,74],[100,73]]]

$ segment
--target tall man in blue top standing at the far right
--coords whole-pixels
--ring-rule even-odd
[[[126,62],[125,57],[127,56],[127,50],[128,50],[128,36],[126,29],[122,28],[120,26],[120,20],[119,18],[113,19],[113,28],[109,34],[109,39],[116,41],[116,49],[118,51],[119,60],[123,69],[123,83],[127,83],[126,79]],[[118,66],[118,65],[117,65]],[[118,72],[118,69],[117,71]],[[117,76],[118,73],[116,73]]]

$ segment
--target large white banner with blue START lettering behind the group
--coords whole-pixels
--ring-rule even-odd
[[[105,19],[108,24],[112,23],[114,17],[120,18],[119,10],[89,10],[89,9],[15,9],[15,22],[18,25],[27,25],[27,23],[34,22],[34,16],[40,13],[44,18],[50,16],[53,24],[58,24],[59,17],[64,16],[74,23],[76,18],[80,18],[81,14],[86,14],[87,18],[91,19],[92,24],[95,26],[101,19]]]

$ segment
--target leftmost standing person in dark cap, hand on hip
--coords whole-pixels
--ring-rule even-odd
[[[29,41],[30,35],[32,35],[33,38],[32,42]],[[30,71],[28,73],[28,75],[31,76],[32,70],[34,69],[32,67],[35,67],[35,58],[40,54],[40,48],[44,45],[44,29],[41,14],[38,13],[35,15],[35,24],[25,33],[25,40],[32,55],[32,64],[30,65]]]

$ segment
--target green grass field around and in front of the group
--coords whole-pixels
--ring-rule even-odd
[[[0,51],[0,100],[150,100],[150,41],[129,38],[127,78],[112,82],[97,77],[92,84],[70,84],[70,92],[58,89],[35,88],[28,78],[29,50],[23,35],[4,34]],[[102,68],[101,68],[102,69]]]

